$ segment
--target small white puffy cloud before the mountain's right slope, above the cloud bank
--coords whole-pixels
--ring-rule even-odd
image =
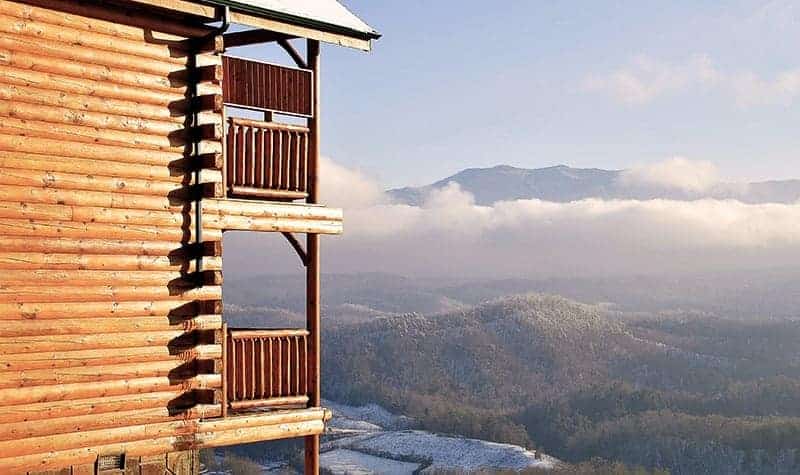
[[[719,184],[720,179],[716,165],[711,162],[674,157],[626,170],[620,181],[630,187],[656,187],[699,194]]]

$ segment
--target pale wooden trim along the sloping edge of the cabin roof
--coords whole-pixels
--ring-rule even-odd
[[[254,5],[255,2],[238,0],[131,0],[156,8],[177,11],[213,21],[218,18],[217,8],[230,9],[230,21],[253,28],[283,33],[289,36],[309,38],[325,43],[347,46],[363,51],[371,49],[371,41],[380,34],[371,28],[357,30],[322,20],[303,17]],[[366,25],[365,25],[366,26]]]

